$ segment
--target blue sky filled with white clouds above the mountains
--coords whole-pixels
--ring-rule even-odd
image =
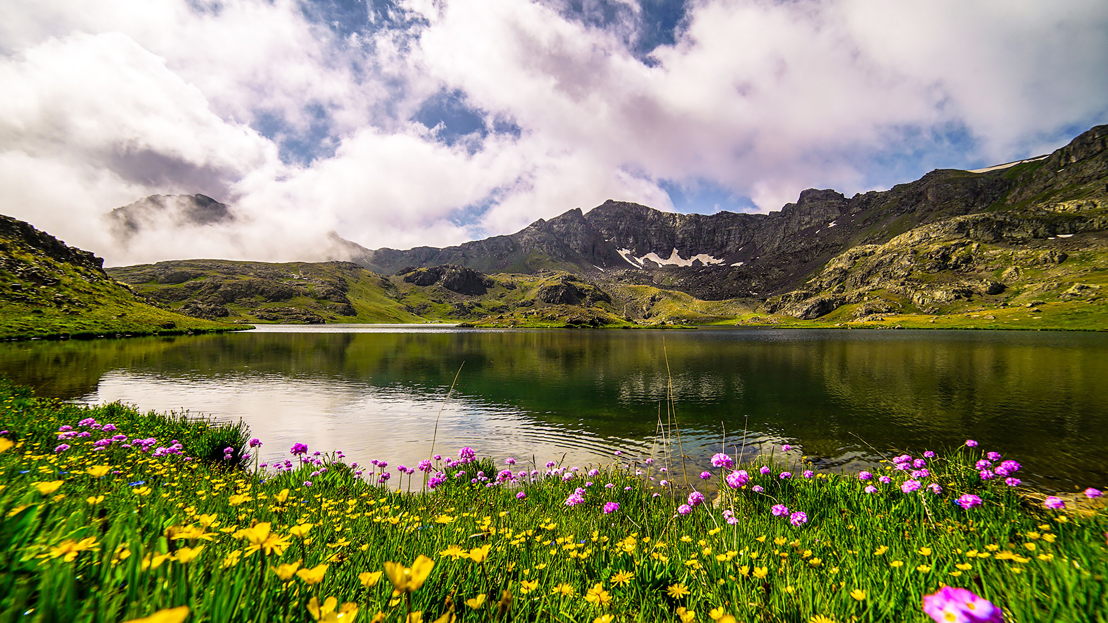
[[[1102,0],[4,0],[0,214],[120,266],[768,212],[1108,123],[1106,33]],[[104,217],[197,193],[235,218]]]

